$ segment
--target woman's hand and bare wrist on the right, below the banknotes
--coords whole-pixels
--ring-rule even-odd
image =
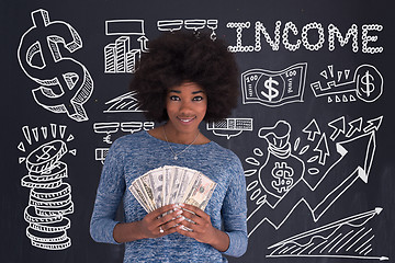
[[[195,239],[199,242],[207,243],[215,249],[224,252],[229,247],[229,237],[227,233],[213,227],[210,216],[202,209],[181,204],[182,217],[188,219],[180,221],[177,231],[183,236]],[[187,229],[185,229],[187,228]]]

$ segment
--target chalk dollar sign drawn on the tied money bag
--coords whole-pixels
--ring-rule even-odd
[[[271,173],[276,179],[271,185],[278,193],[285,193],[292,187],[294,171],[286,162],[275,162]]]

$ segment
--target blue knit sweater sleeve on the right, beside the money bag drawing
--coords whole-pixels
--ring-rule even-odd
[[[229,236],[229,248],[226,255],[241,256],[247,251],[247,201],[246,179],[240,160],[230,168],[234,176],[229,182],[223,205],[224,230]]]

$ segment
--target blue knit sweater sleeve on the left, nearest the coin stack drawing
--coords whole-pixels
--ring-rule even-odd
[[[116,210],[125,191],[121,144],[114,141],[105,158],[90,221],[90,235],[97,242],[117,243],[113,230]]]

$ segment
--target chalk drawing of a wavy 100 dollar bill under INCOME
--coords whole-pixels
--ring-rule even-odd
[[[303,102],[306,69],[307,64],[301,62],[279,71],[250,69],[242,72],[242,104],[274,107]]]

